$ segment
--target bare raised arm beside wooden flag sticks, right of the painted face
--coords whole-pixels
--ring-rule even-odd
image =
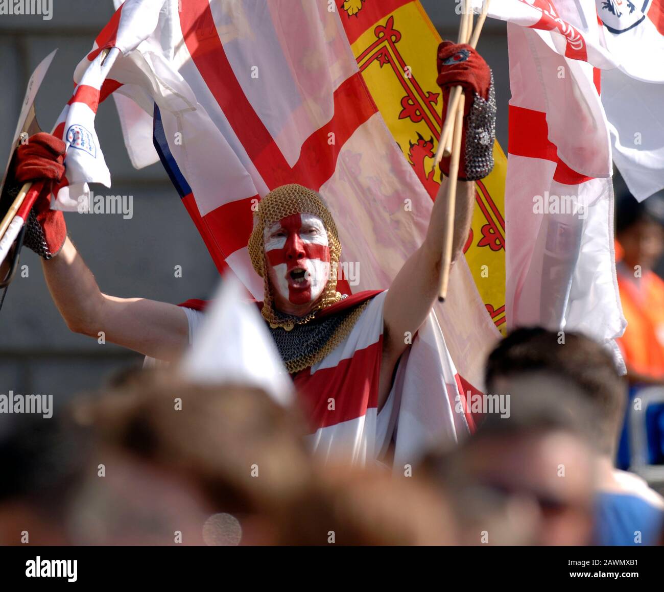
[[[438,298],[440,266],[445,241],[445,220],[448,212],[447,184],[448,179],[444,179],[440,184],[424,243],[404,263],[392,281],[390,291],[385,298],[383,321],[386,339],[384,349],[386,356],[394,361],[406,349],[406,332],[414,335],[420,329]],[[467,240],[474,202],[475,183],[458,181],[452,240],[453,265],[461,255],[461,250]]]

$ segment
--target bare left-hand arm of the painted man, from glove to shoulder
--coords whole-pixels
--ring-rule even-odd
[[[60,253],[42,260],[46,284],[69,329],[160,360],[174,360],[189,343],[187,315],[178,306],[100,291],[94,275],[66,238]]]

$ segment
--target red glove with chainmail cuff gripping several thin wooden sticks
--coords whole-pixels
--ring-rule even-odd
[[[481,179],[493,168],[493,157],[487,156],[487,146],[488,151],[491,152],[495,137],[495,98],[491,68],[469,44],[457,44],[452,41],[444,41],[438,46],[436,65],[438,66],[436,82],[443,93],[443,121],[447,117],[452,88],[461,86],[465,94],[458,177],[463,180]],[[478,96],[481,99],[479,102],[477,102]],[[475,125],[477,129],[471,129],[471,137],[467,137],[469,113],[473,110],[473,106],[477,121],[473,121],[471,127]],[[475,162],[469,162],[467,159],[469,156],[466,150],[467,141],[473,142],[471,148],[475,148],[476,141],[483,145],[479,145],[477,151],[470,151],[471,159],[474,158]],[[490,167],[487,159],[491,160]],[[489,167],[488,171],[487,167]],[[440,161],[440,170],[446,175],[450,174],[450,158]]]

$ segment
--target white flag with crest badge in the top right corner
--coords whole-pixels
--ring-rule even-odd
[[[600,68],[596,82],[625,183],[639,200],[664,188],[662,0],[493,0],[489,16],[550,30],[540,35],[550,48]]]

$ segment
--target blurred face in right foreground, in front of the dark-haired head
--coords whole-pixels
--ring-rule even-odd
[[[556,376],[517,378],[511,415],[488,415],[456,451],[424,466],[448,492],[469,545],[583,545],[592,531],[594,455],[584,411]]]

